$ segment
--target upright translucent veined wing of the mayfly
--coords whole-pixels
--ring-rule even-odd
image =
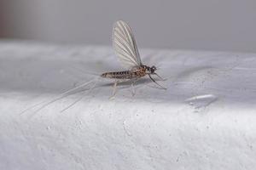
[[[113,49],[126,68],[142,65],[131,27],[123,20],[113,25]]]

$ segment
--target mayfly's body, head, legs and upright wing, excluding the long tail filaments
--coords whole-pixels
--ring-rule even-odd
[[[125,21],[119,20],[114,23],[112,36],[114,52],[119,57],[121,64],[127,69],[126,71],[105,72],[102,74],[101,77],[115,80],[113,96],[116,93],[118,82],[131,81],[131,87],[133,87],[134,82],[145,76],[148,76],[160,88],[166,89],[151,77],[151,75],[156,75],[161,80],[164,80],[155,72],[156,67],[154,65],[151,67],[143,65],[131,27]],[[135,94],[134,88],[132,94]]]

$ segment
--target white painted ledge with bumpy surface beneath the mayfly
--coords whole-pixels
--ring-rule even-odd
[[[91,94],[20,112],[121,70],[112,48],[0,42],[0,169],[253,169],[256,54],[141,50],[168,90]],[[145,85],[147,84],[147,85]],[[120,87],[119,87],[120,88]]]

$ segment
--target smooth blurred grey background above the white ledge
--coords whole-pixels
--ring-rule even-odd
[[[0,0],[0,37],[111,45],[127,21],[139,48],[256,52],[255,0]]]

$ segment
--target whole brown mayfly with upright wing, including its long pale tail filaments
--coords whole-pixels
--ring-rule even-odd
[[[147,65],[143,65],[142,60],[140,58],[140,54],[137,49],[135,38],[131,31],[131,27],[128,26],[128,24],[125,23],[125,21],[123,20],[119,20],[113,25],[113,49],[115,54],[119,57],[121,64],[127,70],[116,71],[116,72],[105,72],[101,75],[101,77],[103,78],[114,79],[112,97],[116,94],[117,84],[119,82],[127,82],[127,81],[131,81],[132,94],[134,95],[135,94],[134,88],[133,88],[134,83],[137,82],[137,80],[139,80],[141,77],[145,77],[145,76],[148,76],[150,80],[152,80],[155,84],[157,84],[157,86],[159,86],[161,89],[166,89],[162,87],[158,82],[156,82],[153,77],[151,77],[152,75],[155,75],[159,77],[160,80],[164,80],[155,72],[156,67],[154,65],[151,67]],[[55,99],[51,99],[46,103],[43,102],[38,104],[41,106],[35,112],[40,111],[45,106],[50,105],[51,103],[59,99],[63,99],[67,97],[68,95],[74,93],[75,90],[78,90],[79,88],[84,88],[89,86],[90,84],[93,84],[90,88],[86,89],[86,90],[89,90],[89,93],[90,93],[90,91],[96,86],[96,80],[98,80],[99,78],[100,77],[96,77],[96,79],[93,79],[89,82],[84,82],[76,88],[67,90],[66,92],[60,94]],[[77,103],[82,98],[75,100],[72,105]],[[21,114],[34,107],[37,107],[38,105],[33,105],[32,107],[26,109],[25,111],[22,111]],[[67,106],[67,108],[70,108],[72,105]],[[62,111],[67,110],[67,108]]]

